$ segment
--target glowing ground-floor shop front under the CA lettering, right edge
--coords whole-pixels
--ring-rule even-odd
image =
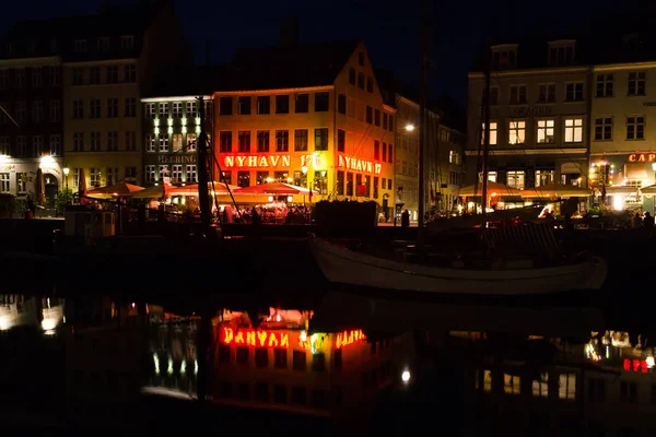
[[[590,187],[595,203],[614,211],[654,212],[656,153],[590,156]]]

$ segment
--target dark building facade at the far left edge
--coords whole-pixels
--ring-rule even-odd
[[[0,48],[0,193],[34,197],[44,174],[46,208],[63,182],[61,59],[56,42],[8,35]]]

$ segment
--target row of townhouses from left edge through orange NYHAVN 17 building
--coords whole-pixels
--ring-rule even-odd
[[[0,192],[28,196],[39,168],[48,202],[82,175],[86,187],[194,182],[204,128],[230,184],[312,185],[319,199],[375,200],[389,217],[408,202],[397,175],[418,177],[400,95],[384,101],[362,42],[283,35],[197,68],[171,2],[17,23],[0,47]]]

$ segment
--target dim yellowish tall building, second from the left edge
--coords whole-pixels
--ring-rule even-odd
[[[69,187],[79,187],[82,170],[89,188],[140,184],[141,94],[185,63],[187,49],[168,3],[110,9],[91,20],[97,27],[85,23],[93,32],[67,42],[71,55],[63,63]]]

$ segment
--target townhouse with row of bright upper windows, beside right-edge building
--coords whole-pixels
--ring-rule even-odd
[[[522,50],[499,45],[491,52],[489,179],[519,190],[551,182],[586,187],[590,72],[578,63],[576,42]],[[469,74],[468,184],[481,177],[480,160],[473,163],[483,141],[484,81],[481,72]]]

